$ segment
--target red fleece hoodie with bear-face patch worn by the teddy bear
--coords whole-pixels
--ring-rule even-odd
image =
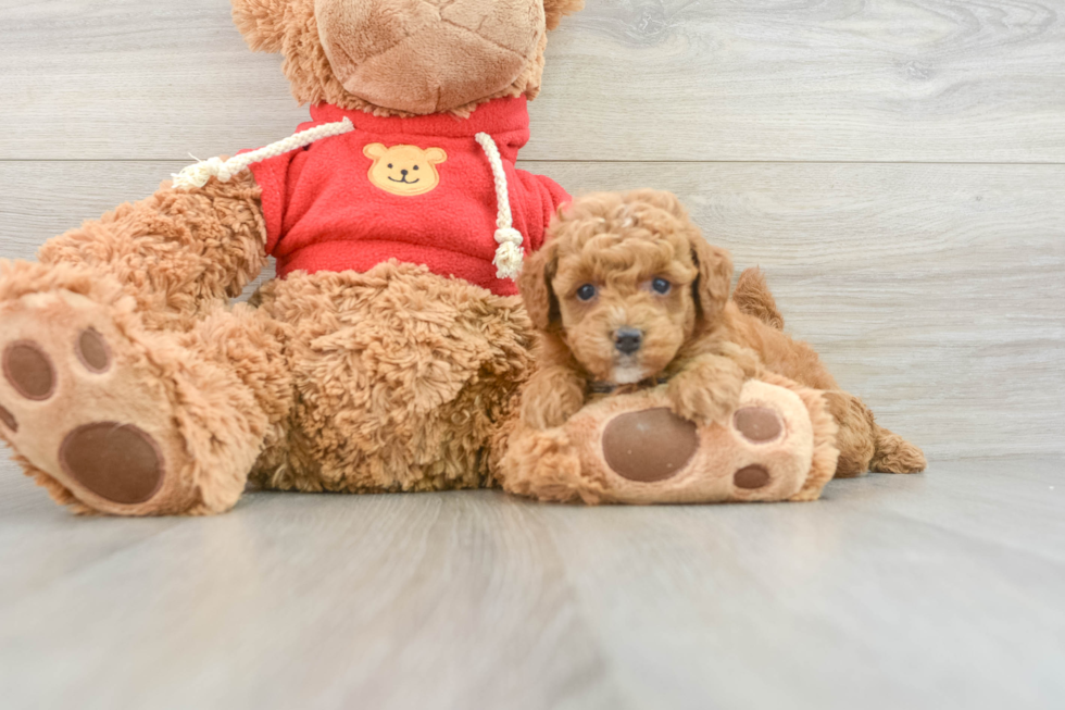
[[[353,132],[251,165],[278,275],[364,272],[394,258],[517,294],[514,282],[496,277],[499,205],[491,164],[474,136],[487,133],[499,147],[513,226],[526,253],[539,249],[551,215],[569,196],[514,166],[529,139],[525,98],[490,101],[468,119],[378,117],[315,105],[300,130],[344,117]]]

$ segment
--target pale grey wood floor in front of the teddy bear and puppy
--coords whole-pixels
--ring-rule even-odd
[[[1061,708],[1060,460],[806,505],[253,494],[82,520],[0,478],[7,708]]]

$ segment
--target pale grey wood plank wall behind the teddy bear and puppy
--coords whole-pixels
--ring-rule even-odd
[[[224,0],[0,0],[0,258],[305,116]],[[525,167],[676,191],[935,459],[1065,452],[1065,1],[588,0]]]

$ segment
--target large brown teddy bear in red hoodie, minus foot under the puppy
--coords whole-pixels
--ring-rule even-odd
[[[527,377],[514,278],[566,194],[514,166],[581,0],[233,0],[293,136],[0,262],[0,434],[61,503],[206,514],[250,481],[484,485]],[[229,307],[277,259],[252,304]]]

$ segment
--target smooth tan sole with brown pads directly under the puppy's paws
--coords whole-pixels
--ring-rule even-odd
[[[814,450],[800,397],[755,381],[725,422],[631,409],[605,418],[591,440],[586,466],[603,470],[607,498],[618,502],[784,500],[803,487]]]

